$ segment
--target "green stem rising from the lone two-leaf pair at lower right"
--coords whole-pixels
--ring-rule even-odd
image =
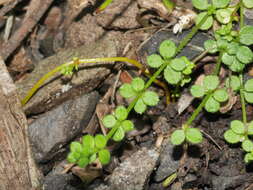
[[[214,75],[218,75],[220,72],[220,67],[221,67],[221,57],[222,57],[223,53],[220,53],[215,70],[213,72]],[[212,96],[213,92],[209,92],[204,99],[201,101],[201,103],[198,105],[198,107],[194,110],[194,112],[192,113],[191,117],[186,121],[186,126],[185,127],[189,127],[191,126],[192,122],[196,119],[196,117],[199,115],[199,113],[201,112],[201,110],[203,109],[203,107],[205,106],[207,100]]]

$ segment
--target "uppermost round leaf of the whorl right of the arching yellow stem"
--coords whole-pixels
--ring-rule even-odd
[[[169,59],[176,54],[176,45],[171,40],[164,40],[159,47],[159,52],[164,59]]]

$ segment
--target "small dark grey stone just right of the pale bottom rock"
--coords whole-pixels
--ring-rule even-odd
[[[178,169],[179,160],[175,160],[173,153],[174,146],[171,143],[167,143],[165,147],[163,147],[160,156],[160,165],[155,172],[154,180],[156,182],[164,180]]]

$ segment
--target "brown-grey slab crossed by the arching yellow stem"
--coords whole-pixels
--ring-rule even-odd
[[[84,45],[76,49],[68,49],[39,62],[35,70],[24,80],[18,81],[16,85],[20,96],[24,98],[29,89],[43,75],[67,61],[71,61],[74,57],[96,58],[115,57],[116,55],[116,43],[111,38],[99,40],[88,46]],[[113,63],[83,64],[67,84],[64,84],[61,80],[61,74],[57,74],[50,82],[39,89],[24,106],[25,113],[30,115],[45,112],[69,98],[90,92],[110,74],[110,68],[113,65]],[[67,86],[69,89],[64,90]]]

